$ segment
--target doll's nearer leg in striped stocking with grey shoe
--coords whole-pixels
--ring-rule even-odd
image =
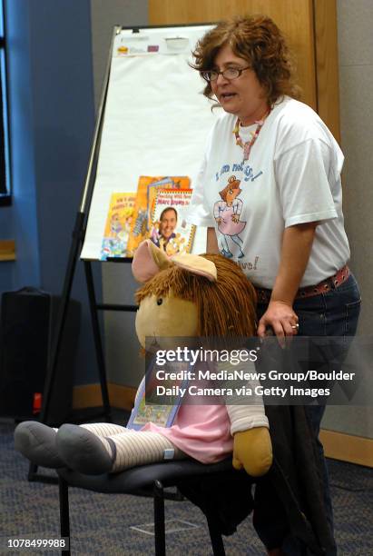
[[[157,432],[124,429],[121,434],[101,437],[88,431],[85,425],[63,425],[57,434],[57,448],[68,467],[89,475],[162,462],[165,450],[172,451],[173,458],[186,457]]]

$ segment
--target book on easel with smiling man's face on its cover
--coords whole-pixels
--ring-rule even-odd
[[[169,256],[190,253],[195,225],[185,222],[191,189],[158,189],[150,239]]]

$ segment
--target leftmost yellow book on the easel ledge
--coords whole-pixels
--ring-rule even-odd
[[[135,200],[133,193],[112,194],[103,231],[100,255],[102,261],[110,257],[126,256]]]

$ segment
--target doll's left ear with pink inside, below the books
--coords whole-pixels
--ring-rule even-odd
[[[169,257],[151,240],[140,243],[133,255],[133,276],[141,283],[148,282],[156,273],[172,266]]]

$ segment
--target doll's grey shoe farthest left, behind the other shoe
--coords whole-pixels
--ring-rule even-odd
[[[30,462],[51,469],[64,467],[57,452],[56,432],[42,422],[21,422],[15,429],[15,450]]]

